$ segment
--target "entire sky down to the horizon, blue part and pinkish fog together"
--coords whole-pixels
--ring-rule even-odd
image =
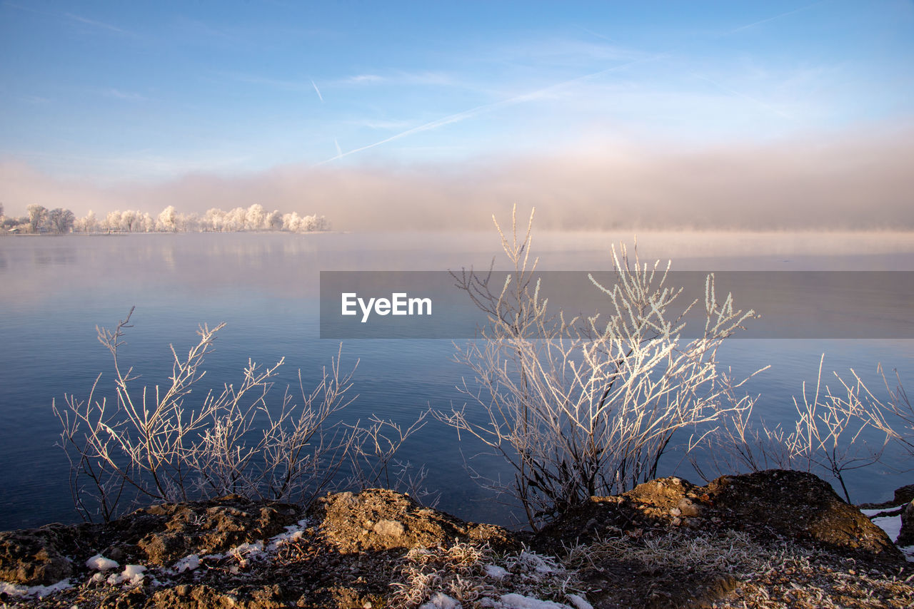
[[[910,0],[0,2],[7,215],[914,229],[912,118]]]

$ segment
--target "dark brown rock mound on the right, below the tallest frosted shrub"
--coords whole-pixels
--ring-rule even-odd
[[[539,538],[560,551],[563,544],[620,531],[665,530],[684,521],[695,528],[746,531],[761,541],[787,539],[880,561],[903,560],[886,533],[824,480],[777,469],[722,476],[705,487],[680,478],[652,480],[619,497],[590,498],[544,528]]]

